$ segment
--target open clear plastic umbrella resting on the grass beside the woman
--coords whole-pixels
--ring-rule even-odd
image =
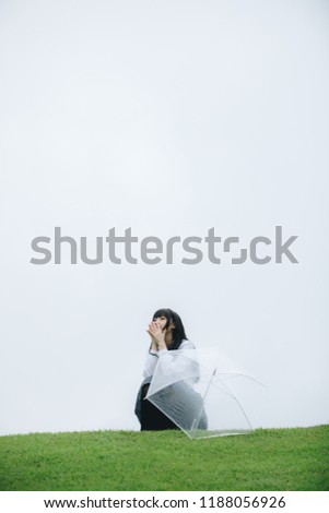
[[[252,427],[244,402],[257,384],[218,349],[165,351],[145,398],[192,439],[245,434]]]

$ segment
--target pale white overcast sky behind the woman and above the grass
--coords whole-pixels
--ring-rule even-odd
[[[157,308],[267,384],[254,427],[329,422],[326,1],[0,7],[0,433],[139,429]],[[282,264],[32,265],[31,241],[273,239]],[[266,254],[266,253],[265,253]]]

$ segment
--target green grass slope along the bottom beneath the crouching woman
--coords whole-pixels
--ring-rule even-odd
[[[328,490],[329,426],[0,437],[1,490]]]

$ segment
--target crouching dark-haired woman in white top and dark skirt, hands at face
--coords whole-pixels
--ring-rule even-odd
[[[177,369],[179,369],[179,367],[177,367],[177,359],[174,361],[174,359],[168,358],[168,351],[177,349],[190,350],[195,349],[195,345],[187,338],[178,313],[174,312],[169,308],[157,310],[154,313],[146,332],[151,337],[151,346],[143,371],[144,381],[142,382],[137,396],[134,411],[140,420],[141,431],[178,429],[175,422],[173,422],[164,413],[144,397],[148,394],[148,390],[160,358],[162,359],[162,365],[167,367],[168,372],[171,372],[171,370],[173,372],[177,372]],[[190,374],[196,377],[192,381],[197,381],[198,370],[196,371],[196,362],[188,358],[180,359],[180,369],[183,369],[181,360],[184,361],[184,366],[190,366]],[[167,395],[168,397],[173,397],[173,403],[177,405],[177,401],[179,401],[180,404],[185,405],[185,411],[183,411],[184,419],[187,423],[186,429],[189,429],[188,426],[191,422],[190,419],[196,416],[197,410],[200,410],[200,404],[202,408],[201,396],[197,394],[184,380],[176,382],[167,390],[171,391],[171,394]],[[186,411],[187,408],[188,411]],[[199,429],[207,429],[204,413],[201,416],[201,420],[198,419],[198,421]]]

